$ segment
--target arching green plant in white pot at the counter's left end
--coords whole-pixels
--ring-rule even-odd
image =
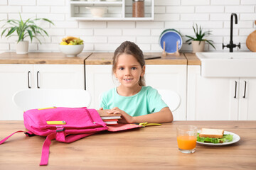
[[[8,31],[5,37],[10,38],[13,36],[13,33],[16,32],[18,35],[17,45],[16,45],[16,53],[17,54],[27,54],[28,53],[28,40],[24,40],[26,37],[29,37],[31,39],[31,42],[33,38],[36,38],[40,43],[41,41],[37,38],[38,35],[46,34],[48,36],[48,33],[43,28],[36,26],[35,21],[42,20],[47,21],[50,24],[54,23],[46,18],[36,18],[31,19],[28,18],[25,22],[21,18],[21,13],[19,13],[20,20],[10,19],[6,21],[4,26],[1,28],[5,28],[2,33],[1,37],[4,35],[6,30]]]

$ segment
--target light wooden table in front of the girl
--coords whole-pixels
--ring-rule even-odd
[[[176,127],[223,128],[240,135],[233,145],[197,145],[178,152]],[[24,130],[23,121],[0,121],[0,139]],[[16,134],[0,145],[0,169],[255,169],[256,121],[175,121],[123,132],[100,132],[66,144],[53,140],[48,166],[39,166],[45,137]]]

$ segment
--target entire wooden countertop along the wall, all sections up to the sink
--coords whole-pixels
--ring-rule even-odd
[[[113,52],[82,52],[78,57],[65,57],[61,52],[29,52],[17,55],[16,52],[0,54],[0,64],[111,64]],[[201,65],[201,61],[193,53],[181,53],[180,56],[166,55],[161,52],[145,52],[145,57],[161,57],[146,60],[146,64],[188,64]]]

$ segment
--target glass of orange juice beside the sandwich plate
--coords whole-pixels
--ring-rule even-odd
[[[177,128],[178,150],[185,154],[196,152],[197,128],[193,125],[182,125]]]

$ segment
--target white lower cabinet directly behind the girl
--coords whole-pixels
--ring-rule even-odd
[[[112,77],[112,65],[86,65],[86,90],[92,94],[90,108],[100,108],[102,92],[118,86]],[[171,89],[181,96],[181,106],[174,112],[174,120],[186,120],[186,65],[146,65],[146,86]]]

